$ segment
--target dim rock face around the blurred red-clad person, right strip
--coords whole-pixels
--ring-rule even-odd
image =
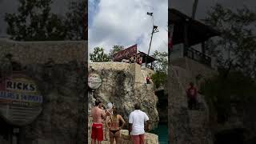
[[[170,142],[175,144],[211,144],[209,110],[202,95],[198,94],[199,110],[189,110],[186,86],[194,79],[189,70],[172,66],[169,71],[170,90],[169,123]]]

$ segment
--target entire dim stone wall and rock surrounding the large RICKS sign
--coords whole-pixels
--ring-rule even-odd
[[[20,144],[87,143],[86,42],[0,41],[0,74],[11,74],[14,66],[5,58],[12,54],[22,73],[38,84],[42,112],[19,129]],[[48,58],[54,63],[45,64]],[[1,122],[2,125],[5,123]],[[0,143],[10,143],[7,131],[0,130]]]

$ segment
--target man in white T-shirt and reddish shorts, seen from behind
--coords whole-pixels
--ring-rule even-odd
[[[149,130],[149,117],[141,110],[141,104],[134,105],[135,110],[129,116],[129,134],[134,144],[144,144],[145,131]]]

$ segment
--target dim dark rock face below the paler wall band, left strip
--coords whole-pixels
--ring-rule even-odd
[[[21,144],[86,143],[85,68],[77,62],[26,65],[24,73],[38,84],[42,113],[19,129]],[[4,144],[2,135],[0,143]],[[10,143],[10,142],[9,142]]]

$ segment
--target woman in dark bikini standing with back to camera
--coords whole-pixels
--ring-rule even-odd
[[[120,121],[122,122],[122,126],[119,126]],[[114,139],[116,144],[119,144],[120,130],[122,130],[122,127],[125,125],[125,121],[121,115],[117,114],[115,107],[113,108],[113,114],[106,122],[108,122],[108,127],[110,130],[110,144],[114,144]]]

